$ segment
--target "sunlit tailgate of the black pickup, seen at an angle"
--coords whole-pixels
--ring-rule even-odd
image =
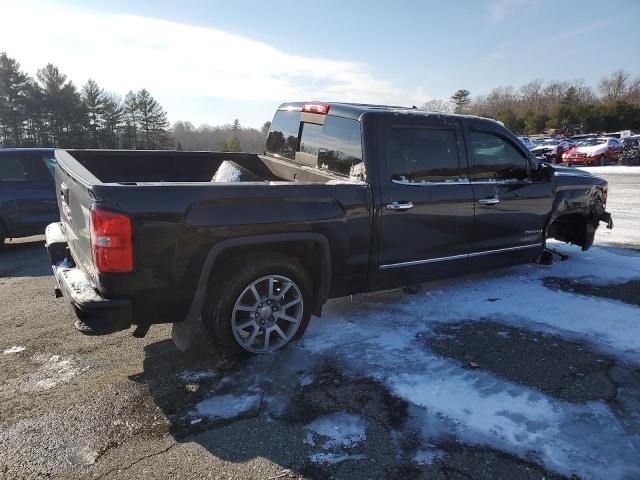
[[[100,181],[67,152],[56,151],[56,192],[60,220],[76,265],[95,278],[91,254],[92,185]]]

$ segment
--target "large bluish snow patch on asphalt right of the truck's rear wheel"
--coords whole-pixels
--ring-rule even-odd
[[[578,339],[640,363],[640,309],[542,285],[548,276],[598,285],[640,279],[640,253],[553,247],[568,253],[569,260],[441,282],[415,297],[386,292],[356,297],[354,303],[331,303],[309,328],[303,348],[341,358],[407,400],[413,421],[423,426],[425,442],[455,432],[463,442],[537,457],[567,475],[638,476],[638,426],[616,416],[606,403],[557,400],[491,373],[465,369],[416,341],[417,335],[433,335],[438,323],[491,319]],[[639,399],[633,402],[640,410]]]

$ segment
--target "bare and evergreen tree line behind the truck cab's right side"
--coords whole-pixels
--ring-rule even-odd
[[[512,131],[527,135],[548,130],[639,130],[640,77],[632,78],[628,72],[617,70],[603,77],[597,90],[580,80],[534,80],[520,88],[496,87],[475,98],[460,89],[449,100],[430,100],[422,108],[495,118]]]

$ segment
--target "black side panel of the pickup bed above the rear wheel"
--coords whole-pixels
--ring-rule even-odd
[[[366,287],[371,192],[364,183],[96,185],[94,202],[132,219],[132,274],[98,274],[101,293],[137,297],[153,323],[180,321],[205,259],[217,243],[238,237],[319,233],[330,246],[332,296]],[[151,308],[150,308],[151,306]],[[137,310],[137,309],[136,309]]]

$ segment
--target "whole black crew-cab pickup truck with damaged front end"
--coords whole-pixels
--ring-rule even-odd
[[[46,244],[76,327],[201,320],[227,352],[300,337],[329,298],[588,249],[607,183],[538,163],[490,119],[344,103],[279,107],[264,154],[57,151]]]

